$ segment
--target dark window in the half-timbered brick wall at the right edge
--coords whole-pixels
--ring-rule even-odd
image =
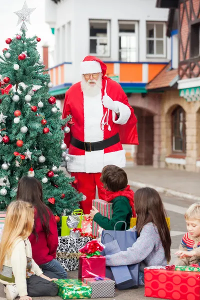
[[[200,55],[200,23],[191,25],[191,38],[190,38],[190,53],[191,57],[196,57]]]

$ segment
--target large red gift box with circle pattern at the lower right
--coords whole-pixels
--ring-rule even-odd
[[[172,300],[200,300],[200,273],[145,268],[144,295]]]

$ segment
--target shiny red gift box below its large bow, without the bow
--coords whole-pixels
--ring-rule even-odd
[[[78,278],[105,277],[105,257],[94,255],[89,258],[86,255],[79,257]]]

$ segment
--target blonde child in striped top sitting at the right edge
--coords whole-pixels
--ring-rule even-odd
[[[183,235],[179,250],[175,252],[179,256],[176,265],[200,262],[200,202],[190,205],[184,218],[188,232]]]

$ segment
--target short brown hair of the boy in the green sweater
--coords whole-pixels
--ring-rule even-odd
[[[104,188],[111,191],[123,190],[128,183],[126,172],[113,164],[103,167],[100,181],[103,183]]]

